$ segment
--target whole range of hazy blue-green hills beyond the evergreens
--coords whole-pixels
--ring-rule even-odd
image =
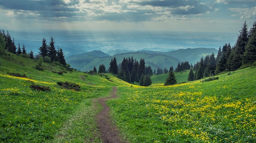
[[[169,52],[157,52],[149,50],[141,51],[128,51],[128,50],[110,50],[108,53],[94,50],[92,52],[85,52],[81,54],[75,54],[65,57],[66,62],[71,65],[72,68],[79,71],[90,71],[94,66],[98,69],[99,65],[105,65],[106,69],[110,66],[112,58],[117,59],[117,64],[121,63],[125,58],[133,57],[137,61],[140,58],[144,58],[146,66],[149,66],[154,70],[157,68],[167,68],[171,66],[177,67],[178,63],[182,61],[189,61],[191,64],[195,64],[200,61],[200,58],[205,57],[207,54],[214,53],[217,55],[218,50],[214,48],[188,48],[173,50]],[[215,56],[216,57],[216,56]]]

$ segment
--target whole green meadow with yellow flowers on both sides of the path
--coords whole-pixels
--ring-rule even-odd
[[[175,73],[177,82],[186,83],[173,86],[162,86],[163,74],[152,77],[153,85],[140,87],[112,74],[90,75],[49,63],[39,71],[38,63],[10,53],[0,57],[0,142],[102,142],[95,121],[102,107],[93,102],[109,96],[113,86],[119,98],[107,103],[111,120],[129,143],[256,140],[256,66],[213,81],[186,82],[186,70]]]

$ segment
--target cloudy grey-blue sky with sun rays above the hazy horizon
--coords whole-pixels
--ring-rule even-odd
[[[6,30],[238,32],[256,0],[0,0]]]

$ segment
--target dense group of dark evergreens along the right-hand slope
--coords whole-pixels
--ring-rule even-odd
[[[198,80],[203,77],[209,77],[224,71],[235,71],[240,67],[247,67],[255,64],[256,61],[256,22],[248,31],[246,22],[238,35],[236,44],[231,47],[226,43],[219,48],[218,55],[207,55],[204,59],[194,65],[193,71],[189,73],[188,80]],[[193,76],[193,78],[192,78]]]

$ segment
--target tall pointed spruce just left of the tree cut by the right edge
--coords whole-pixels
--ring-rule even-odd
[[[240,35],[236,40],[236,46],[234,47],[235,54],[231,63],[233,65],[234,70],[242,66],[243,54],[245,52],[245,46],[247,45],[248,40],[249,39],[248,39],[247,24],[245,21],[242,30],[240,30]]]

